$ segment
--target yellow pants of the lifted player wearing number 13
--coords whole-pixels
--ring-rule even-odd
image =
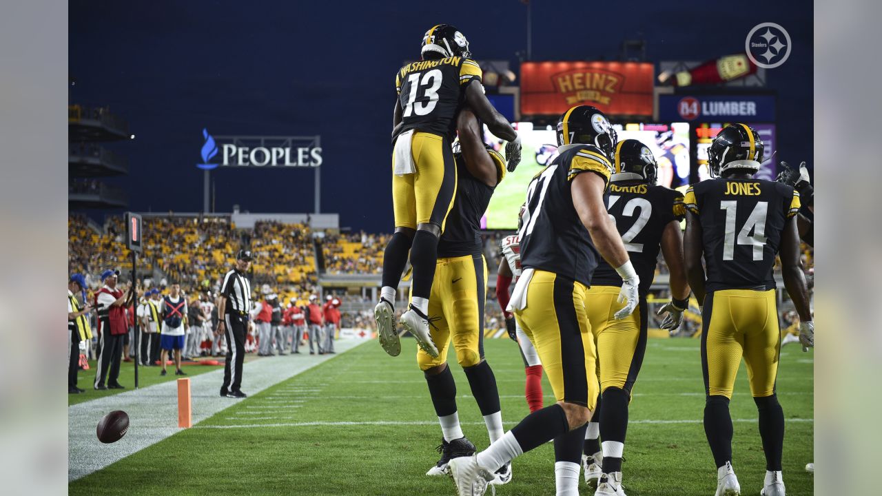
[[[456,162],[447,139],[430,132],[414,132],[410,144],[414,174],[392,174],[392,211],[396,228],[416,229],[433,223],[444,232],[456,198]],[[395,169],[392,154],[392,170]]]

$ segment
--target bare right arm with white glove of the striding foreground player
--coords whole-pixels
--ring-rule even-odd
[[[587,169],[589,170],[589,169]],[[588,229],[594,247],[601,253],[609,265],[616,267],[622,277],[622,289],[618,294],[618,303],[626,301],[624,308],[616,312],[616,319],[624,319],[639,302],[638,287],[640,279],[631,264],[628,252],[624,249],[622,237],[609,220],[606,206],[603,205],[603,190],[606,179],[600,173],[576,174],[572,178],[572,205],[579,214],[579,220]]]

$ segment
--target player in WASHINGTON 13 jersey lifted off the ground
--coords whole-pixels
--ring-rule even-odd
[[[520,140],[511,124],[484,96],[481,67],[456,27],[439,24],[422,38],[422,61],[395,76],[398,99],[392,120],[392,206],[395,232],[383,257],[383,288],[374,309],[380,345],[392,357],[401,352],[395,328],[395,292],[407,264],[413,267],[409,309],[401,325],[431,357],[437,348],[429,335],[429,294],[435,274],[438,237],[456,195],[456,165],[451,151],[455,117],[465,105],[509,144],[508,159],[519,157]]]

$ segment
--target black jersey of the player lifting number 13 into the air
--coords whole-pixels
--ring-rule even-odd
[[[495,151],[489,152],[497,165],[499,181],[505,177],[505,160]],[[444,233],[438,239],[437,257],[462,257],[483,252],[481,218],[490,205],[495,187],[484,184],[468,172],[462,154],[456,154],[456,196],[447,215]],[[498,184],[498,183],[497,183]]]

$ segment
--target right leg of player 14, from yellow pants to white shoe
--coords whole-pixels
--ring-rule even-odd
[[[739,328],[744,328],[744,363],[751,383],[751,395],[759,411],[759,436],[766,455],[766,480],[763,496],[782,496],[781,453],[784,448],[784,410],[775,394],[778,362],[781,357],[781,334],[774,289],[751,291],[751,298],[737,310]]]

